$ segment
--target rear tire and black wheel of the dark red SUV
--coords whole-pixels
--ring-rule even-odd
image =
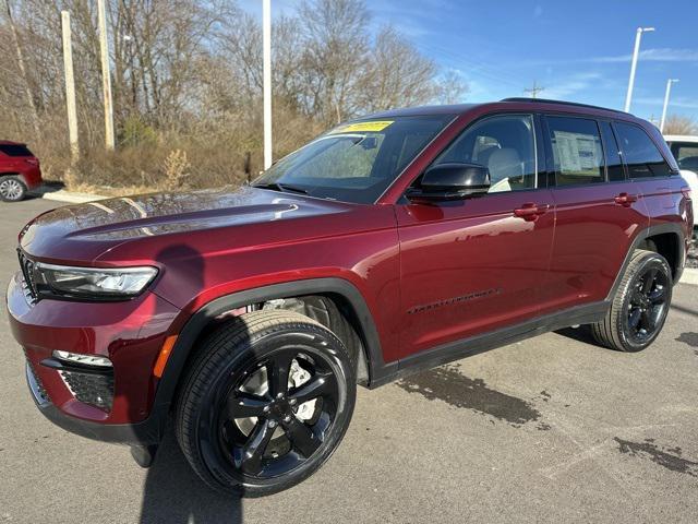
[[[672,271],[664,257],[636,250],[605,318],[591,324],[594,340],[618,352],[641,352],[648,347],[666,320],[672,284]]]

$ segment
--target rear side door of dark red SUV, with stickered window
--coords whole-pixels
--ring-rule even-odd
[[[556,209],[545,308],[603,300],[631,236],[648,224],[636,184],[626,179],[611,124],[593,117],[545,117],[551,193]]]

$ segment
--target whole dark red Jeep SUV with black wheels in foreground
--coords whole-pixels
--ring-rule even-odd
[[[693,223],[659,131],[545,100],[386,111],[250,187],[58,209],[8,290],[38,408],[212,487],[311,475],[376,388],[546,331],[658,336]],[[69,460],[69,458],[67,458]]]

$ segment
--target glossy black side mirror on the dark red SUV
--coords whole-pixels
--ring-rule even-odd
[[[449,163],[432,166],[424,172],[419,188],[406,196],[412,202],[462,200],[490,190],[490,170],[479,164]]]

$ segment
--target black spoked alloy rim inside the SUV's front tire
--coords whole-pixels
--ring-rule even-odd
[[[220,446],[245,476],[289,474],[317,451],[336,419],[337,378],[323,356],[302,347],[256,360],[230,382],[218,409]]]

